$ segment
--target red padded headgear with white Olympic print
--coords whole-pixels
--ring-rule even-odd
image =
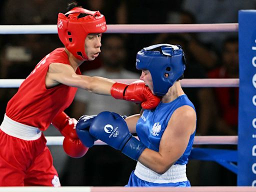
[[[79,14],[88,14],[78,18]],[[74,7],[70,11],[58,13],[58,37],[79,60],[88,60],[84,42],[89,33],[103,33],[106,31],[106,21],[99,11],[90,11],[82,7]]]

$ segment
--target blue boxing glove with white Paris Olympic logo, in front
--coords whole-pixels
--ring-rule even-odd
[[[100,112],[91,123],[89,133],[134,160],[146,148],[129,132],[123,117],[115,112]]]

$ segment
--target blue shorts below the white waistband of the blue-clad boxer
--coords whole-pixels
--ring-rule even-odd
[[[189,187],[189,180],[182,182],[169,182],[169,183],[154,183],[141,180],[134,174],[134,170],[131,172],[128,184],[125,186],[173,186],[173,187]]]

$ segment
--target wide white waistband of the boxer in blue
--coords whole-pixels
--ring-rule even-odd
[[[147,182],[169,183],[186,181],[186,165],[173,164],[163,174],[158,174],[137,161],[134,174]]]

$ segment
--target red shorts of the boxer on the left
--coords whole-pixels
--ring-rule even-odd
[[[0,146],[0,186],[60,186],[43,134],[23,140],[0,129]]]

